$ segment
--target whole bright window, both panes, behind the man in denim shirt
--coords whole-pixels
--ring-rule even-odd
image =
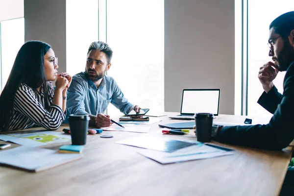
[[[85,71],[93,41],[107,42],[114,51],[107,74],[124,96],[164,111],[164,0],[67,0],[66,25],[68,73]],[[121,114],[112,104],[107,113]]]

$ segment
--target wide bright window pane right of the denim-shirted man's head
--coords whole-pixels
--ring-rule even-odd
[[[106,41],[114,51],[107,75],[129,102],[163,112],[164,0],[107,0],[106,7]],[[119,112],[108,107],[109,115]]]

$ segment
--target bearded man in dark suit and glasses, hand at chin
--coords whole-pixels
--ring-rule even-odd
[[[287,12],[270,24],[268,62],[260,68],[258,78],[265,92],[258,103],[273,114],[268,124],[220,126],[213,129],[216,141],[269,150],[281,150],[294,139],[294,11]],[[278,72],[286,71],[283,95],[273,85]],[[294,171],[289,169],[280,196],[294,194]]]

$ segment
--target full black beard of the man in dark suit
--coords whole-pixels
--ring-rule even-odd
[[[277,62],[279,71],[287,71],[289,65],[294,61],[294,48],[290,45],[288,40],[284,41],[284,47],[280,51]]]

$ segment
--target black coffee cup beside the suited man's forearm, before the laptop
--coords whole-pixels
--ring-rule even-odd
[[[212,131],[213,114],[196,113],[196,137],[199,142],[210,142]]]

